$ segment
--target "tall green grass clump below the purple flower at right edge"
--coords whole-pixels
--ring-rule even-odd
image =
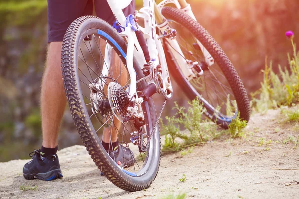
[[[281,106],[292,106],[299,102],[299,52],[291,39],[293,56],[288,54],[289,66],[279,66],[279,73],[275,74],[270,65],[265,61],[265,69],[261,89],[252,93],[252,107],[257,112],[265,112]]]

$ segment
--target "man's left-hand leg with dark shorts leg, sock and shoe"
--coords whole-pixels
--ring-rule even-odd
[[[65,109],[65,93],[61,72],[61,46],[69,25],[78,17],[91,15],[93,0],[48,0],[48,54],[41,86],[43,142],[41,150],[31,153],[23,175],[31,180],[61,178],[57,138]]]

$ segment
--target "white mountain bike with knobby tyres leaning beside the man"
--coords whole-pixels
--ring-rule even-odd
[[[62,46],[63,82],[95,164],[119,188],[138,191],[150,186],[159,169],[158,123],[173,97],[167,64],[188,97],[198,96],[206,115],[222,127],[238,113],[248,121],[250,106],[235,68],[185,0],[143,0],[144,7],[128,17],[121,9],[131,0],[107,2],[117,19],[113,27],[95,16],[69,26]],[[158,114],[155,93],[165,99]],[[108,154],[100,140],[107,135],[111,148],[117,139],[132,151],[133,162],[122,164]]]

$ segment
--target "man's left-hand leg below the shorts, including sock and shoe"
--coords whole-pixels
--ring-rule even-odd
[[[48,55],[41,84],[41,118],[43,142],[41,151],[35,151],[30,162],[25,164],[25,179],[53,180],[63,177],[57,152],[57,137],[65,109],[65,93],[61,73],[62,42],[48,45]]]

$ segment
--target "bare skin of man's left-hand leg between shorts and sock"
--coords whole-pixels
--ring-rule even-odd
[[[61,72],[62,42],[48,45],[46,67],[41,84],[42,145],[55,148],[58,144],[58,131],[66,105]]]

